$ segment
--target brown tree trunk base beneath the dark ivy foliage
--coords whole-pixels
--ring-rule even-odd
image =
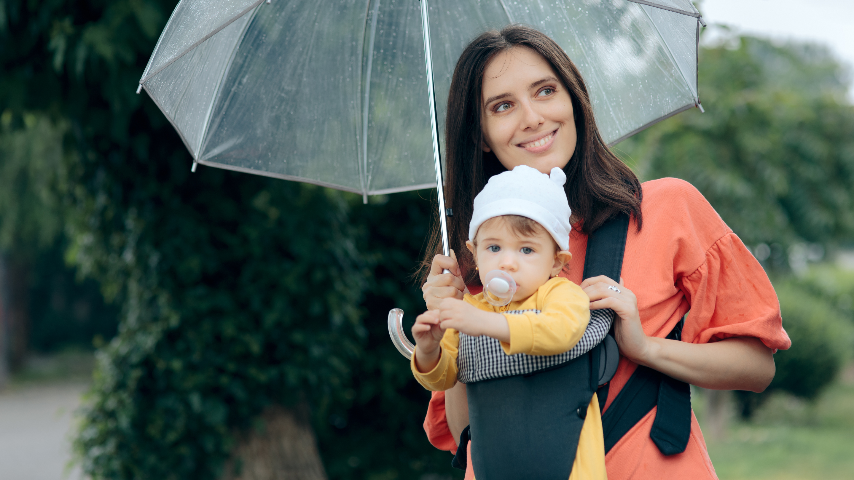
[[[243,436],[222,480],[326,480],[304,407],[268,407]]]

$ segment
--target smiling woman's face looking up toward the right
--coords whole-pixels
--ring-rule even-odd
[[[576,149],[570,94],[545,58],[527,47],[496,55],[483,73],[483,151],[508,170],[549,173]]]

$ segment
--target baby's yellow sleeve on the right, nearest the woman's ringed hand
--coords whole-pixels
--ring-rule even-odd
[[[590,298],[565,278],[549,280],[535,295],[540,313],[504,313],[510,326],[510,343],[504,353],[563,354],[576,346],[590,321]]]

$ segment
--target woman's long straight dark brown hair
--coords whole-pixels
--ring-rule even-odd
[[[580,230],[589,234],[620,213],[634,215],[639,231],[642,223],[640,180],[602,140],[587,87],[570,57],[552,38],[530,26],[510,25],[489,30],[475,38],[459,56],[447,97],[445,201],[447,208],[453,208],[447,228],[465,284],[480,284],[473,268],[474,259],[465,248],[474,198],[489,177],[506,171],[494,153],[481,149],[483,72],[496,54],[516,46],[527,47],[545,58],[569,91],[577,140],[576,150],[564,167],[564,188],[573,220],[581,220]],[[433,256],[442,253],[440,242],[436,217],[427,255],[418,272],[422,283],[430,273]]]

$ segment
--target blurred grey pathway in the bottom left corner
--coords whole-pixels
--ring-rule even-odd
[[[0,480],[79,480],[67,471],[69,433],[85,383],[17,385],[0,392]]]

